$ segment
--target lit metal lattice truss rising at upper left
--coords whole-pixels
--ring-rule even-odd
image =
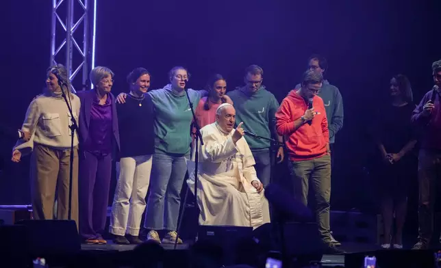
[[[51,59],[50,65],[61,63],[66,66],[73,90],[88,89],[90,51],[95,56],[95,8],[94,1],[93,46],[90,47],[90,5],[88,0],[52,0]],[[74,12],[75,15],[74,16]],[[61,15],[60,15],[61,14]],[[65,19],[63,20],[63,16]],[[75,19],[77,18],[77,19]],[[64,36],[64,38],[63,38]],[[62,51],[65,52],[62,57]],[[92,67],[93,68],[93,67]],[[82,77],[78,75],[82,73]],[[81,83],[80,83],[81,81]]]

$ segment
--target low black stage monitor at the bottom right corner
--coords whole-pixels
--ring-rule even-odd
[[[439,267],[436,265],[433,250],[377,250],[345,254],[344,267],[364,267],[364,257],[366,256],[377,258],[376,268]]]

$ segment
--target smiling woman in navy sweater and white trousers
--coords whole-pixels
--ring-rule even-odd
[[[118,183],[109,228],[115,235],[115,243],[140,244],[141,217],[146,206],[145,196],[149,189],[155,151],[155,115],[151,96],[145,94],[150,87],[149,72],[136,68],[127,76],[127,83],[130,93],[125,103],[116,105],[121,159],[116,163]]]

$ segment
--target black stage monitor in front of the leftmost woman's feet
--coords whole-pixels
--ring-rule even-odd
[[[27,229],[29,252],[36,257],[76,254],[81,250],[77,224],[73,220],[22,220],[16,223]]]

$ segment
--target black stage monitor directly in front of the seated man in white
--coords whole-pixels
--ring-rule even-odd
[[[247,248],[238,248],[253,239],[253,228],[243,226],[207,226],[198,229],[197,241],[208,241],[223,249],[224,265],[234,265],[238,254],[244,254]],[[250,249],[251,250],[251,249]]]

